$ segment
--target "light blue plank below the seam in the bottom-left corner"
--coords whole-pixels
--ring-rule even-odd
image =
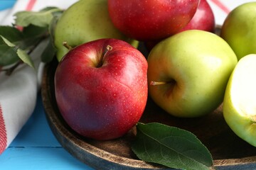
[[[62,147],[9,147],[0,155],[0,169],[26,170],[92,170],[72,157]]]

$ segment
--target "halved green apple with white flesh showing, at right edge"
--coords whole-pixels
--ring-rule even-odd
[[[242,57],[228,81],[223,101],[226,123],[256,147],[256,55]]]

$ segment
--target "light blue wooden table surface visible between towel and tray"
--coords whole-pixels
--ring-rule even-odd
[[[16,170],[92,170],[71,156],[51,132],[38,94],[33,115],[11,145],[0,155],[0,169]]]

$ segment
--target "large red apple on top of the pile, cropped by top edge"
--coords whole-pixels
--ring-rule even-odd
[[[191,21],[199,0],[108,0],[110,18],[120,31],[140,41],[167,38]]]

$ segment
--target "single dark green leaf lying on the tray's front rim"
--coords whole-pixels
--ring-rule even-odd
[[[193,133],[161,123],[138,123],[132,150],[145,162],[175,169],[213,166],[210,152]]]

